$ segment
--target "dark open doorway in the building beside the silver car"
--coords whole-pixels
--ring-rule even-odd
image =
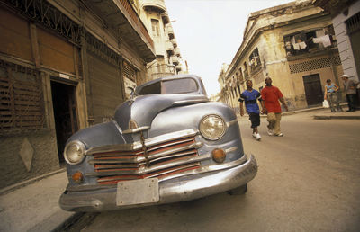
[[[58,160],[62,164],[65,161],[62,153],[67,138],[78,129],[75,86],[51,81],[51,92],[58,141]]]

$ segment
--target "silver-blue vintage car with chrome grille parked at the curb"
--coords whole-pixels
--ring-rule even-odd
[[[245,193],[257,174],[238,118],[211,102],[202,79],[166,76],[136,87],[113,120],[77,131],[64,149],[64,210],[103,211],[218,192]]]

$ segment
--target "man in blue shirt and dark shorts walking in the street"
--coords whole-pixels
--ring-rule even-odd
[[[247,90],[240,94],[238,101],[240,102],[240,115],[244,116],[244,102],[247,107],[249,120],[251,121],[251,128],[253,129],[253,137],[258,141],[261,139],[257,127],[260,126],[260,109],[257,105],[257,100],[261,103],[261,94],[253,89],[253,82],[247,80]],[[263,106],[261,104],[261,106]]]

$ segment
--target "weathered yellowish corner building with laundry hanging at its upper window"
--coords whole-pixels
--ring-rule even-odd
[[[251,13],[243,42],[225,73],[226,103],[238,106],[248,79],[261,90],[266,76],[284,94],[290,109],[319,105],[326,79],[343,74],[329,13],[298,0]]]

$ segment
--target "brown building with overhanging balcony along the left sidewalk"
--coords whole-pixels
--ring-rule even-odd
[[[0,188],[58,170],[67,138],[111,120],[156,58],[132,1],[0,3]]]

